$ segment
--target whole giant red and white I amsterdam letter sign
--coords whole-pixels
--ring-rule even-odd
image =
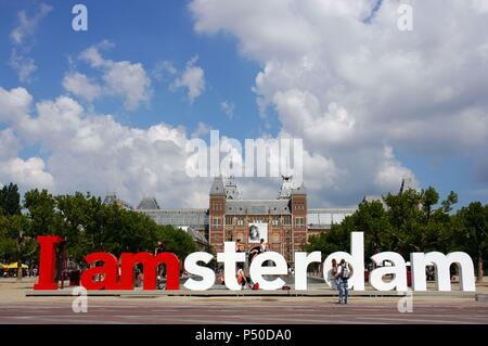
[[[38,236],[41,246],[39,260],[39,281],[35,290],[56,290],[55,278],[55,244],[61,242],[60,236]],[[351,233],[350,253],[336,252],[330,254],[323,261],[324,281],[329,281],[328,272],[332,269],[332,259],[339,261],[345,259],[352,267],[352,277],[349,286],[355,291],[364,291],[364,239],[362,232]],[[210,289],[216,281],[214,270],[202,266],[208,264],[214,255],[205,252],[190,254],[184,259],[184,269],[193,275],[185,281],[184,287],[192,291],[205,291]],[[407,291],[407,264],[402,256],[393,252],[375,254],[371,259],[381,264],[389,261],[393,265],[380,267],[371,271],[370,284],[378,291]],[[102,264],[91,267],[81,274],[81,285],[87,290],[133,290],[134,266],[143,265],[144,282],[143,290],[156,290],[156,271],[158,266],[166,266],[167,290],[180,289],[180,260],[171,253],[153,255],[150,253],[124,253],[120,261],[108,253],[93,253],[85,257],[89,265]],[[224,282],[229,290],[240,291],[242,287],[235,278],[236,262],[245,261],[244,253],[235,252],[235,243],[226,242],[223,253],[217,254],[217,261],[223,262]],[[274,266],[264,266],[265,262],[273,261]],[[322,254],[295,253],[295,290],[307,290],[307,268],[312,262],[322,262]],[[462,252],[444,255],[438,252],[412,253],[410,255],[413,291],[426,291],[426,266],[435,266],[437,291],[451,291],[450,267],[457,265],[459,269],[460,290],[475,292],[474,266],[471,257]],[[282,255],[274,252],[265,252],[256,256],[249,268],[251,279],[259,283],[261,290],[279,290],[285,284],[280,275],[287,274],[287,264]],[[93,280],[95,275],[103,275],[102,281]],[[389,281],[384,281],[385,275],[393,275]],[[265,278],[267,275],[268,278]],[[269,279],[269,275],[277,278]]]

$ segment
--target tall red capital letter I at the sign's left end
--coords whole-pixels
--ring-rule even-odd
[[[57,290],[57,282],[54,282],[56,273],[56,251],[54,244],[61,243],[61,236],[38,235],[37,242],[40,244],[39,281],[34,285],[34,290]]]

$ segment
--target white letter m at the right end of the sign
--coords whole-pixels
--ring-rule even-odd
[[[474,266],[471,257],[461,252],[450,253],[447,256],[438,253],[412,253],[412,286],[413,291],[427,291],[425,266],[435,266],[437,291],[451,291],[451,274],[449,268],[458,265],[460,291],[475,292]]]

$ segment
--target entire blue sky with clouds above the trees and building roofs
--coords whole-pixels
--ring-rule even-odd
[[[205,207],[185,145],[217,129],[303,139],[313,207],[402,178],[488,202],[486,0],[82,1],[75,31],[79,2],[0,0],[0,183]]]

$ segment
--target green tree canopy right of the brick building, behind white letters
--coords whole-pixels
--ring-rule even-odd
[[[329,232],[310,236],[308,252],[330,254],[349,248],[350,233],[364,232],[364,255],[397,252],[408,258],[412,252],[463,251],[477,260],[478,280],[488,258],[488,205],[473,202],[452,214],[458,195],[440,201],[434,188],[388,193],[382,200],[363,201],[358,209]]]

